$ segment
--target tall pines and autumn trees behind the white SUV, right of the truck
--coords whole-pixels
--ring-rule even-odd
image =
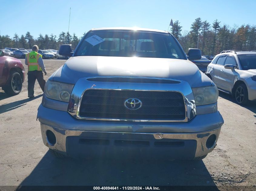
[[[170,32],[177,38],[185,52],[188,48],[201,49],[202,55],[216,55],[223,50],[256,49],[256,26],[242,24],[240,27],[221,25],[217,19],[210,24],[196,18],[190,31],[182,31],[179,21],[175,21]]]

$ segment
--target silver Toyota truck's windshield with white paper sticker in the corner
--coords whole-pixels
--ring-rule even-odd
[[[169,33],[136,30],[92,30],[74,56],[123,56],[186,59]]]

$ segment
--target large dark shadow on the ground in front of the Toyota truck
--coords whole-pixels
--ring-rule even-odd
[[[77,160],[47,152],[22,186],[212,186],[204,162],[162,160]]]

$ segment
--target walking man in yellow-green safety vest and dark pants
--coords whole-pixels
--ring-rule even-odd
[[[45,80],[43,72],[46,73],[44,61],[42,55],[37,53],[38,46],[32,47],[32,52],[26,54],[25,64],[28,65],[28,97],[33,98],[35,80],[37,79],[42,91],[45,89]]]

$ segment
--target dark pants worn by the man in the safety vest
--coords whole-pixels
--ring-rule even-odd
[[[28,71],[28,97],[34,95],[35,80],[37,79],[42,91],[45,89],[45,80],[42,71]]]

